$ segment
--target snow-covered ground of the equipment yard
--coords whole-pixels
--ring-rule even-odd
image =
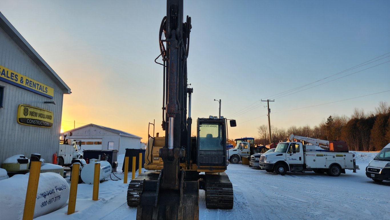
[[[346,170],[346,174],[339,177],[314,172],[288,172],[280,176],[248,165],[230,164],[226,173],[234,188],[233,209],[206,209],[201,190],[199,219],[390,220],[390,182],[378,184],[365,176],[365,167],[377,153],[355,154],[360,170],[357,173]],[[123,157],[118,157],[119,168]],[[123,177],[123,173],[116,175]],[[112,178],[116,179],[113,175]],[[69,177],[66,180],[70,184]],[[128,174],[128,182],[130,180],[131,173]],[[99,185],[99,200],[93,201],[93,185],[79,184],[76,213],[66,215],[66,203],[62,209],[35,220],[135,219],[137,209],[126,204],[127,187],[123,180],[105,181]],[[0,219],[5,220],[7,215],[12,213],[2,213]]]

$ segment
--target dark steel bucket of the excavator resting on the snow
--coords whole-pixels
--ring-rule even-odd
[[[199,181],[184,181],[179,190],[162,190],[157,181],[144,180],[137,220],[199,220]]]

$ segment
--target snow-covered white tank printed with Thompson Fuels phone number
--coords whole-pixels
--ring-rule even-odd
[[[0,181],[0,219],[20,220],[26,200],[28,174],[16,174]],[[69,184],[58,173],[39,175],[34,218],[46,215],[64,206],[69,198]]]

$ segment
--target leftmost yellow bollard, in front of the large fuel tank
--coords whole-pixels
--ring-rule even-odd
[[[41,156],[39,156],[41,157]],[[35,201],[38,191],[39,173],[41,172],[41,161],[37,156],[31,155],[31,168],[28,177],[25,207],[23,211],[23,220],[32,220],[34,217]]]

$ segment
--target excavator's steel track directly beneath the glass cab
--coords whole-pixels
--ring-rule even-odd
[[[206,173],[206,208],[232,209],[233,185],[225,172]]]

